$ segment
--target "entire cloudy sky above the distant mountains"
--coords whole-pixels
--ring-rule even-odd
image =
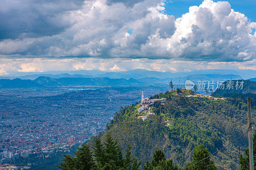
[[[256,70],[256,2],[2,0],[0,75]]]

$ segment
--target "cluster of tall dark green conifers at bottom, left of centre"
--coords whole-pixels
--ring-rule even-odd
[[[75,152],[75,157],[64,155],[60,165],[61,170],[138,170],[141,161],[132,159],[131,146],[127,147],[125,157],[117,144],[117,140],[107,134],[106,142],[101,144],[100,136],[96,137],[93,147],[93,154],[89,149],[89,145],[83,144]],[[94,156],[94,160],[93,160]]]

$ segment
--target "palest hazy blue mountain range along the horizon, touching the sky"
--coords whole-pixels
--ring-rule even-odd
[[[215,69],[215,70],[195,70],[190,72],[159,72],[150,71],[144,69],[135,69],[129,71],[117,71],[117,72],[106,72],[100,70],[76,70],[76,71],[47,71],[47,72],[13,72],[9,76],[0,76],[4,79],[31,79],[34,80],[40,76],[50,77],[50,78],[95,78],[95,77],[107,77],[107,78],[177,78],[186,77],[191,75],[200,74],[220,74],[220,75],[239,75],[242,79],[249,79],[256,77],[256,70],[225,70],[225,69]],[[230,78],[228,78],[230,79]]]

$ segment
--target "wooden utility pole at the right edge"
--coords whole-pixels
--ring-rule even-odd
[[[247,98],[247,115],[248,115],[248,137],[249,137],[249,162],[250,170],[254,170],[253,165],[253,146],[252,146],[252,115],[251,115],[251,98]]]

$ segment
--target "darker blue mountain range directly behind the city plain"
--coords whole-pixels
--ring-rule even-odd
[[[30,75],[31,77],[35,75]],[[60,76],[66,76],[59,78]],[[57,78],[52,78],[57,77]],[[15,79],[0,79],[0,88],[43,88],[43,87],[61,87],[61,86],[113,86],[113,85],[158,85],[159,83],[168,84],[171,80],[175,82],[185,83],[185,81],[189,78],[192,81],[212,81],[212,80],[227,80],[229,78],[233,79],[241,79],[239,75],[221,75],[221,74],[197,74],[190,75],[180,78],[154,78],[154,77],[146,77],[146,78],[107,78],[107,77],[96,77],[96,78],[86,78],[83,75],[69,75],[69,74],[59,74],[52,75],[52,77],[40,76],[34,80],[22,80],[20,78]]]

